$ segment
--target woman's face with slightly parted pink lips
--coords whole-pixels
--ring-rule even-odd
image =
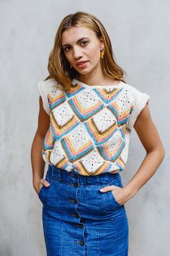
[[[100,50],[104,44],[93,30],[74,26],[63,32],[61,40],[66,59],[80,75],[101,72]],[[79,61],[86,63],[78,64]]]

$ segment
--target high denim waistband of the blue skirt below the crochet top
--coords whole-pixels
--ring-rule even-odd
[[[104,173],[94,176],[85,176],[78,174],[76,171],[66,171],[52,165],[48,165],[47,177],[52,181],[68,183],[71,181],[79,180],[79,184],[94,185],[94,184],[109,184],[115,179],[121,179],[120,174]]]

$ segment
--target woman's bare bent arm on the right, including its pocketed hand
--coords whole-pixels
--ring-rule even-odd
[[[134,128],[140,142],[142,142],[143,147],[146,149],[146,157],[140,164],[138,171],[125,187],[121,189],[117,186],[108,186],[104,189],[104,192],[109,190],[114,191],[115,199],[120,202],[120,204],[125,204],[125,202],[130,200],[130,198],[151,179],[151,176],[156,172],[165,155],[164,146],[153,124],[147,104],[138,115]]]

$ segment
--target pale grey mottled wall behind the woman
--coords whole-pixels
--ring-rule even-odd
[[[117,63],[128,73],[127,82],[151,96],[149,107],[166,157],[125,205],[129,255],[170,255],[170,2],[1,0],[0,256],[45,256],[42,204],[32,187],[30,163],[39,109],[37,82],[48,74],[48,55],[59,23],[76,11],[99,17],[112,40]],[[133,129],[128,163],[121,173],[124,185],[144,156]]]

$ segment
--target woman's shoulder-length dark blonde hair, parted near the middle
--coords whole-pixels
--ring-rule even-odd
[[[97,38],[103,38],[104,58],[101,58],[102,72],[108,77],[125,82],[125,71],[116,64],[115,59],[113,58],[114,53],[112,51],[112,44],[109,39],[109,35],[107,35],[107,31],[104,29],[104,26],[97,17],[86,12],[69,14],[61,21],[55,35],[53,50],[50,52],[50,56],[48,58],[49,75],[45,80],[55,78],[55,80],[63,86],[64,90],[69,90],[71,88],[71,80],[74,78],[78,79],[79,73],[70,67],[61,45],[62,33],[67,28],[76,25],[89,28],[96,33]]]

